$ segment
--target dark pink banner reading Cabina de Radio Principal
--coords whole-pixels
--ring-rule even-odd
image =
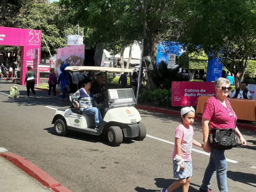
[[[198,97],[214,94],[211,82],[172,82],[172,106],[196,106]]]

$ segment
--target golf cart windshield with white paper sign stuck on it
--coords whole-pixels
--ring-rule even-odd
[[[134,105],[135,103],[133,89],[108,89],[109,108]]]

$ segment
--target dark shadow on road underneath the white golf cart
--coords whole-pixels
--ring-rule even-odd
[[[52,135],[57,135],[53,127],[45,128],[44,130],[46,130],[48,133],[51,133]],[[76,131],[69,131],[67,136],[65,137],[76,139],[76,140],[87,141],[91,143],[103,143],[105,145],[111,146],[108,144],[107,135],[104,133],[99,136],[96,136],[96,135],[90,135],[90,134],[76,132]],[[139,142],[139,141],[136,141],[136,142]],[[134,141],[128,138],[124,138],[122,144],[131,144],[131,143],[134,143]]]

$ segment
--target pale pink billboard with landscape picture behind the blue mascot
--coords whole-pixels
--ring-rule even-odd
[[[59,74],[61,73],[60,66],[64,62],[69,63],[69,66],[84,65],[84,44],[58,49],[56,68]]]

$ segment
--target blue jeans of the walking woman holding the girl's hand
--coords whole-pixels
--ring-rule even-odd
[[[204,172],[204,179],[201,185],[201,189],[207,190],[210,188],[212,178],[217,172],[217,183],[220,192],[228,192],[227,182],[227,169],[228,164],[224,155],[225,150],[219,150],[212,148],[210,161]]]

